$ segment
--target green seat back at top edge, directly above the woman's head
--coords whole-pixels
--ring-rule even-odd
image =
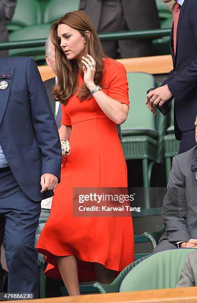
[[[78,10],[79,2],[79,0],[50,0],[45,10],[44,22],[54,22],[67,12]]]

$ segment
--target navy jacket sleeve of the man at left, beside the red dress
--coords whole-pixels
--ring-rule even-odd
[[[27,63],[27,87],[32,122],[42,152],[42,175],[50,173],[60,181],[61,145],[57,126],[41,75],[32,58]]]

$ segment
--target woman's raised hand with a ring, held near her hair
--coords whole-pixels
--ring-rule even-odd
[[[84,56],[82,57],[82,63],[84,64],[82,67],[84,72],[84,83],[89,90],[92,90],[95,88],[94,78],[96,62],[91,55],[87,54],[87,58]]]

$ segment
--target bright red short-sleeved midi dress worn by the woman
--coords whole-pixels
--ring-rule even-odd
[[[129,105],[124,66],[109,58],[103,62],[103,92]],[[82,82],[80,75],[79,86]],[[94,97],[80,102],[73,95],[62,106],[62,124],[72,125],[71,153],[62,165],[37,249],[47,256],[47,276],[61,278],[55,256],[75,255],[79,281],[96,280],[93,262],[118,272],[134,261],[132,218],[73,217],[73,187],[127,187],[126,162],[116,124]]]

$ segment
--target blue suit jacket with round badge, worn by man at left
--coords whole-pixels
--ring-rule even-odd
[[[0,74],[8,87],[0,90],[0,146],[18,184],[33,201],[41,194],[41,175],[60,180],[61,146],[49,99],[32,58],[0,58]],[[1,82],[2,80],[0,80]]]

